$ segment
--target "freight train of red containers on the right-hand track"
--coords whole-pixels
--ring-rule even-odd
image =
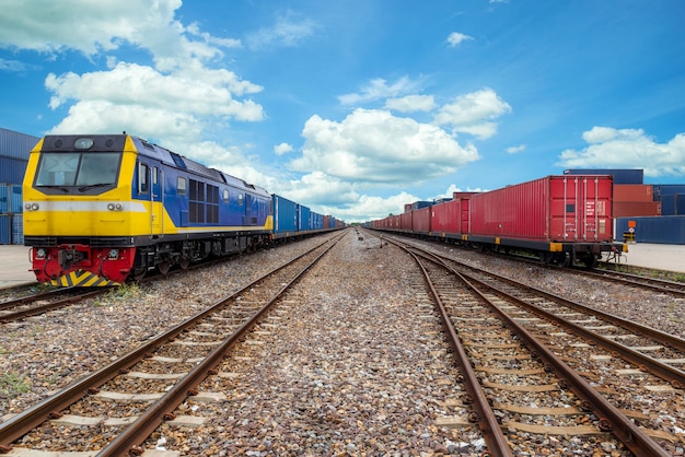
[[[594,268],[602,255],[628,250],[613,241],[612,196],[612,176],[546,176],[488,192],[455,192],[434,204],[408,204],[403,214],[365,226]]]

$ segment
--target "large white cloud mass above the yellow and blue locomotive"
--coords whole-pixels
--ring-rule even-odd
[[[193,142],[210,124],[262,120],[263,107],[248,96],[263,87],[217,65],[221,48],[240,47],[240,40],[213,37],[196,23],[184,26],[175,19],[181,5],[181,0],[7,0],[0,47],[50,55],[77,50],[105,59],[107,70],[47,75],[50,108],[71,104],[50,132],[127,130]],[[148,51],[153,65],[121,61],[125,46]]]

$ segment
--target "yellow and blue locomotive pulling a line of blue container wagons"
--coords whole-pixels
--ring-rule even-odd
[[[116,285],[345,225],[126,133],[46,136],[23,195],[33,271],[61,286]]]

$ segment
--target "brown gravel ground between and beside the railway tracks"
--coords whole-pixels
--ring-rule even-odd
[[[0,332],[0,373],[12,375],[12,387],[0,391],[0,418],[21,412],[321,239],[236,257],[173,280],[121,288],[104,298],[5,325]],[[682,301],[614,290],[564,271],[451,246],[431,249],[685,337]],[[224,360],[219,372],[225,375],[201,386],[202,391],[222,392],[223,399],[187,402],[182,409],[210,420],[199,429],[165,424],[146,447],[206,456],[484,450],[473,427],[450,424],[450,401],[463,394],[454,385],[458,371],[413,260],[372,233],[356,230],[349,230],[328,256],[303,278],[277,316]],[[645,403],[650,395],[634,391]],[[663,408],[652,420],[664,427],[671,421],[677,424],[670,430],[676,436],[681,430],[682,443],[671,449],[685,455],[685,410],[682,405]],[[522,432],[511,433],[525,443]],[[59,448],[60,433],[54,429],[49,436],[34,436],[26,444],[40,446],[42,440]],[[602,436],[590,442],[573,436],[531,440],[519,450],[535,456],[630,455]]]

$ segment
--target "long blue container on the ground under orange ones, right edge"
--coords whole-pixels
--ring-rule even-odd
[[[652,218],[617,218],[616,239],[628,232],[628,222],[635,221],[637,243],[685,244],[685,215],[661,215]]]

